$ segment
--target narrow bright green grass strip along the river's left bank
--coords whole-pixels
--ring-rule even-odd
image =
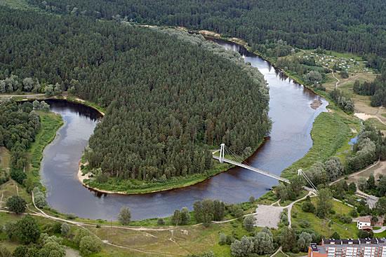
[[[56,132],[63,125],[62,117],[53,112],[37,111],[40,117],[40,130],[36,134],[35,141],[28,149],[29,174],[36,183],[40,183],[40,162],[43,158],[44,148],[55,139]]]

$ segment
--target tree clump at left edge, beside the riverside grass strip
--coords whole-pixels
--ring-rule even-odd
[[[0,146],[11,151],[11,169],[22,170],[27,166],[27,148],[39,127],[39,116],[33,112],[31,103],[0,102]]]

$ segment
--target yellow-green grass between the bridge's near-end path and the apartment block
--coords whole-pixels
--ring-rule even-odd
[[[316,199],[312,199],[315,204]],[[341,202],[333,201],[333,210],[336,214],[347,215],[352,207],[348,207]],[[331,220],[331,223],[329,222]],[[324,237],[330,237],[333,232],[338,232],[341,238],[354,238],[357,236],[358,228],[356,223],[345,224],[330,215],[330,217],[321,219],[316,215],[302,211],[302,202],[298,202],[292,209],[292,223],[293,228],[300,228],[302,223],[307,221],[309,223],[308,228],[318,232]],[[330,223],[330,224],[329,224]]]

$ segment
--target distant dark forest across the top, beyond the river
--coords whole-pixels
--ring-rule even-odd
[[[386,55],[382,33],[386,26],[386,3],[382,0],[360,3],[280,0],[275,4],[253,0],[29,0],[29,3],[55,13],[209,29],[246,39],[260,50],[266,48],[267,41],[282,40],[298,48]]]

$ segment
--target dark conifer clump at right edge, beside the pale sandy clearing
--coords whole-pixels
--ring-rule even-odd
[[[386,71],[372,82],[355,81],[353,90],[358,95],[371,95],[371,106],[386,106]]]

